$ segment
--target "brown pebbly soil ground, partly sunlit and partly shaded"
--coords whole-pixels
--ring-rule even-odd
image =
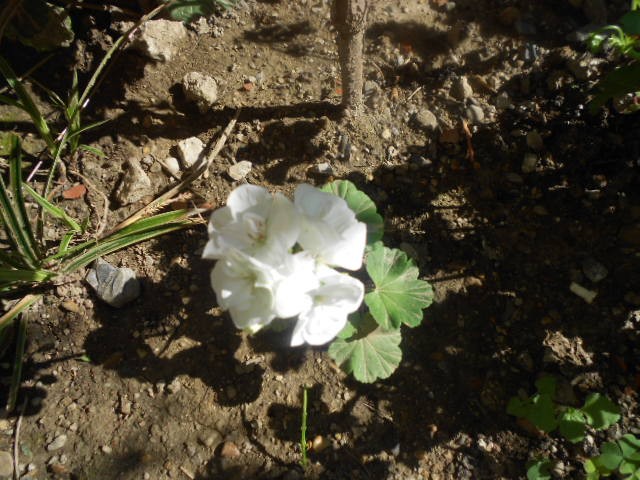
[[[403,331],[395,374],[363,385],[325,348],[236,331],[200,258],[204,227],[111,255],[142,280],[134,303],[111,308],[76,281],[28,314],[21,478],[516,479],[545,456],[558,478],[581,478],[581,459],[606,439],[639,433],[640,119],[587,112],[606,66],[572,40],[593,15],[575,3],[375,2],[356,120],[337,107],[326,0],[249,1],[211,19],[207,33],[192,31],[168,62],[118,58],[89,109],[111,122],[85,137],[107,157],[78,160],[93,186],[65,206],[95,226],[98,192],[113,200],[129,157],[215,140],[242,108],[199,194],[223,205],[238,184],[227,170],[241,160],[253,163],[245,181],[287,194],[300,182],[350,179],[436,301]],[[627,2],[607,7],[615,20]],[[98,27],[113,20],[96,18]],[[95,68],[111,36],[87,28],[76,65]],[[48,80],[63,84],[68,71]],[[218,81],[211,112],[185,101],[189,71]],[[143,165],[157,191],[171,182]],[[109,224],[141,205],[112,201]],[[594,261],[607,270],[598,282]],[[587,303],[572,282],[597,296]],[[577,446],[522,428],[506,404],[542,374],[558,379],[565,403],[601,392],[623,419]],[[305,385],[317,438],[303,470]],[[0,420],[0,450],[12,451],[17,419]]]

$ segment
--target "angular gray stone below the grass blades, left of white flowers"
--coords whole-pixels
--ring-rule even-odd
[[[140,281],[133,270],[116,268],[98,258],[86,277],[96,295],[112,307],[122,307],[140,296]]]

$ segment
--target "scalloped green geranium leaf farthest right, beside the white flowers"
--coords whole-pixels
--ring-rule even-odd
[[[418,280],[418,268],[407,254],[376,242],[367,254],[366,266],[375,289],[364,301],[378,325],[386,329],[419,325],[422,310],[433,301],[433,289]]]

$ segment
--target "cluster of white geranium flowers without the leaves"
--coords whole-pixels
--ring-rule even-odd
[[[240,329],[297,316],[291,346],[322,345],[362,303],[362,282],[331,268],[358,270],[366,243],[366,225],[340,197],[303,184],[291,202],[241,185],[208,231],[202,256],[218,260],[211,285]]]

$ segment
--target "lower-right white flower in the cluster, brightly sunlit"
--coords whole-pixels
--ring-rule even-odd
[[[349,314],[362,303],[364,285],[360,280],[322,264],[317,265],[316,275],[319,286],[307,294],[311,302],[298,316],[291,337],[292,347],[329,342],[347,324]]]

